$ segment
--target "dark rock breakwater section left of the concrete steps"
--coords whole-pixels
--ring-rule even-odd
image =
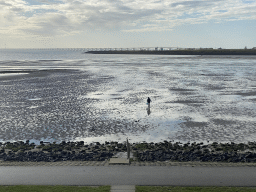
[[[29,141],[1,144],[0,159],[3,161],[105,161],[113,156],[104,145],[94,143],[84,145],[84,142],[44,143],[40,145]]]

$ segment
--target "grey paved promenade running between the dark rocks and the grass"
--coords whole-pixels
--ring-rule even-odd
[[[23,162],[17,166],[14,162],[4,163],[8,162],[0,162],[0,185],[256,186],[255,164],[159,162],[146,166],[146,163],[35,162],[29,165]]]

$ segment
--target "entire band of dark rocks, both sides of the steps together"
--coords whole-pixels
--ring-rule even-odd
[[[185,143],[164,141],[160,143],[130,144],[135,161],[174,162],[256,162],[256,142],[245,143]],[[40,142],[0,142],[2,161],[106,161],[118,152],[126,152],[126,143],[105,142],[85,144],[65,142],[57,144]]]

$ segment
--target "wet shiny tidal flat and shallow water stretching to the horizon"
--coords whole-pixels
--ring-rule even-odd
[[[255,56],[0,50],[0,141],[255,141],[255,102]]]

